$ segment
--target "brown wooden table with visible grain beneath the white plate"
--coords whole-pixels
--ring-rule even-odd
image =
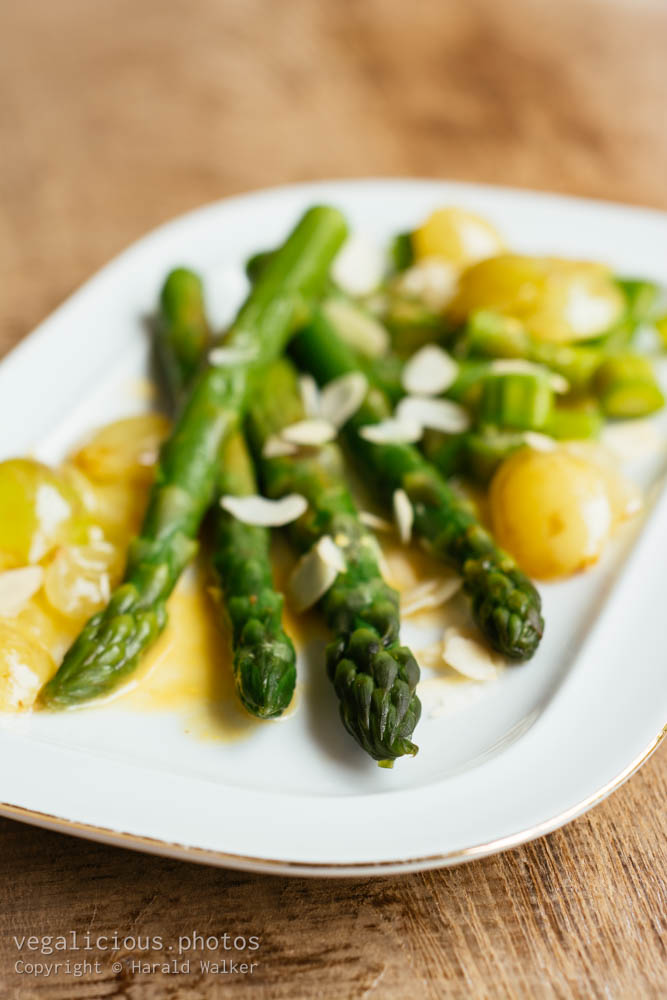
[[[0,351],[145,230],[262,185],[423,175],[667,208],[661,0],[3,8]],[[0,821],[0,995],[662,996],[666,796],[663,750],[524,848],[337,883]],[[12,935],[73,929],[161,934],[166,946],[193,930],[254,934],[260,964],[252,976],[116,974],[93,952],[82,957],[101,958],[100,975],[14,974]]]

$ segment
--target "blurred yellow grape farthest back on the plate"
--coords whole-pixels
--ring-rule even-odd
[[[467,267],[501,253],[503,241],[493,226],[462,208],[440,208],[412,234],[415,257],[439,257]]]

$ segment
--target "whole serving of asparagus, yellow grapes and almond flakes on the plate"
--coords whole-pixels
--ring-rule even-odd
[[[166,276],[173,426],[125,417],[58,469],[0,462],[0,709],[117,691],[201,541],[244,718],[288,714],[315,609],[344,726],[391,766],[417,752],[418,661],[479,685],[530,660],[531,578],[585,570],[640,509],[611,447],[635,457],[628,426],[664,407],[664,295],[514,253],[460,206],[385,254],[318,206],[246,273],[222,332],[200,277]],[[278,583],[272,529],[295,560]],[[441,639],[413,654],[401,614],[440,616]]]

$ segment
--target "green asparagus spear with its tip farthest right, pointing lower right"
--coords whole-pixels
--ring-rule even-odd
[[[357,368],[354,353],[320,311],[292,341],[292,350],[298,363],[320,383]],[[385,498],[396,489],[405,490],[413,506],[416,533],[434,554],[461,573],[473,617],[491,645],[511,659],[528,659],[544,629],[537,591],[418,449],[376,444],[359,433],[389,414],[386,397],[371,385],[364,404],[345,426],[351,449]]]

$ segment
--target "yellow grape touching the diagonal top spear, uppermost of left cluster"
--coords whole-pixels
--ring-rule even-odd
[[[72,461],[94,482],[150,482],[168,430],[169,421],[160,413],[126,417],[98,431]]]

